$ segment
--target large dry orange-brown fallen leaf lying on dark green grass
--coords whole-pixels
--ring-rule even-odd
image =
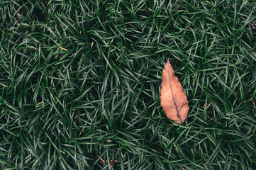
[[[184,123],[189,113],[189,101],[182,89],[182,84],[174,75],[169,59],[162,71],[161,87],[161,106],[167,118],[179,124]]]

